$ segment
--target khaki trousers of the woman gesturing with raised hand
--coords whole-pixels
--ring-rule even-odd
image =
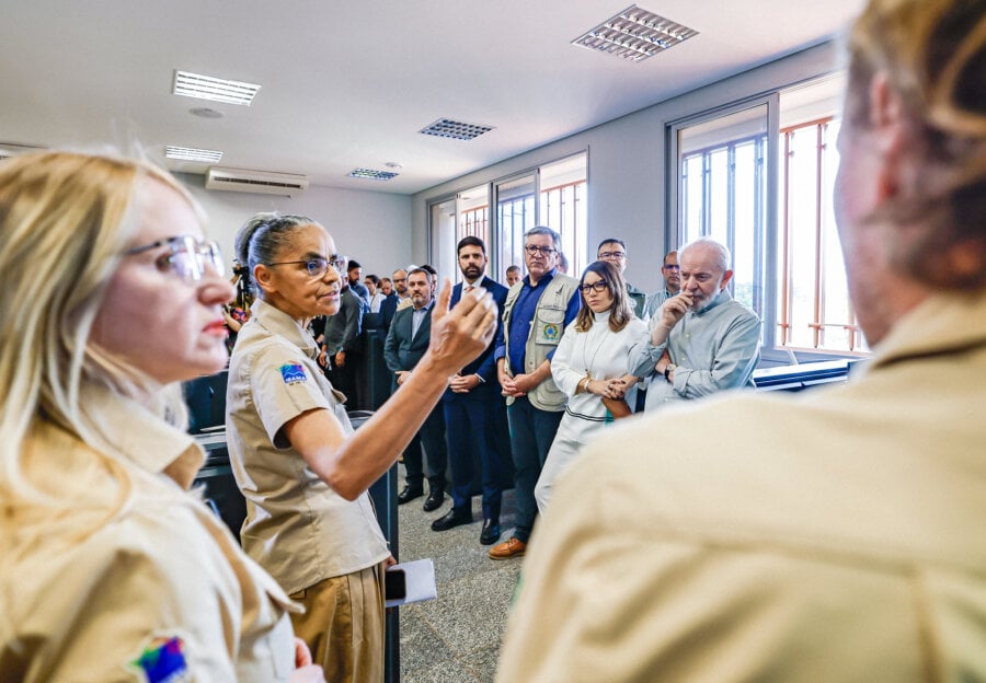
[[[329,683],[383,680],[383,564],[319,581],[293,593],[295,635],[311,649]]]

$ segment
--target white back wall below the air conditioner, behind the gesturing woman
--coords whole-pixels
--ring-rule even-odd
[[[364,274],[389,276],[410,261],[411,197],[310,186],[297,197],[214,192],[202,175],[176,174],[202,204],[209,218],[208,231],[232,263],[237,230],[259,211],[308,216],[323,224],[341,254],[356,259]]]

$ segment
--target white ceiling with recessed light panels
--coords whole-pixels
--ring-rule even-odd
[[[0,4],[0,142],[205,148],[225,167],[413,194],[818,44],[862,2],[640,0],[699,32],[641,62],[571,44],[629,0]],[[176,69],[261,90],[249,107],[176,96]],[[471,141],[417,132],[439,118],[494,129]],[[387,163],[398,177],[348,177]]]

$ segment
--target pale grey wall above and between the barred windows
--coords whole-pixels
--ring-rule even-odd
[[[622,239],[630,257],[628,279],[655,290],[666,251],[667,124],[838,66],[836,47],[819,45],[419,193],[413,197],[412,261],[427,257],[428,201],[588,149],[589,250],[604,238]]]

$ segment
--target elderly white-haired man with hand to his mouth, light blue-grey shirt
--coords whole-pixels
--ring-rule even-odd
[[[653,377],[647,410],[752,385],[760,319],[730,296],[730,250],[712,238],[681,250],[681,291],[651,319],[651,343],[630,355],[633,374]]]

